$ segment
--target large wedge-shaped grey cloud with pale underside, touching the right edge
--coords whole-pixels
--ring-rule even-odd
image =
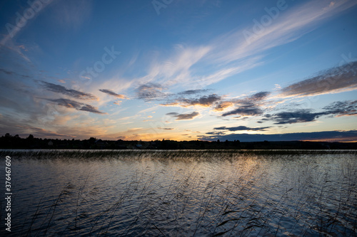
[[[281,89],[282,97],[311,96],[357,89],[357,61],[331,68]]]

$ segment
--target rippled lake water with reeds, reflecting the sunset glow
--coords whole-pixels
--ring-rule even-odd
[[[356,152],[0,153],[13,236],[357,236]]]

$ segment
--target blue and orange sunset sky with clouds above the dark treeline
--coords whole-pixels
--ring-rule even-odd
[[[0,1],[0,135],[357,141],[357,1]]]

